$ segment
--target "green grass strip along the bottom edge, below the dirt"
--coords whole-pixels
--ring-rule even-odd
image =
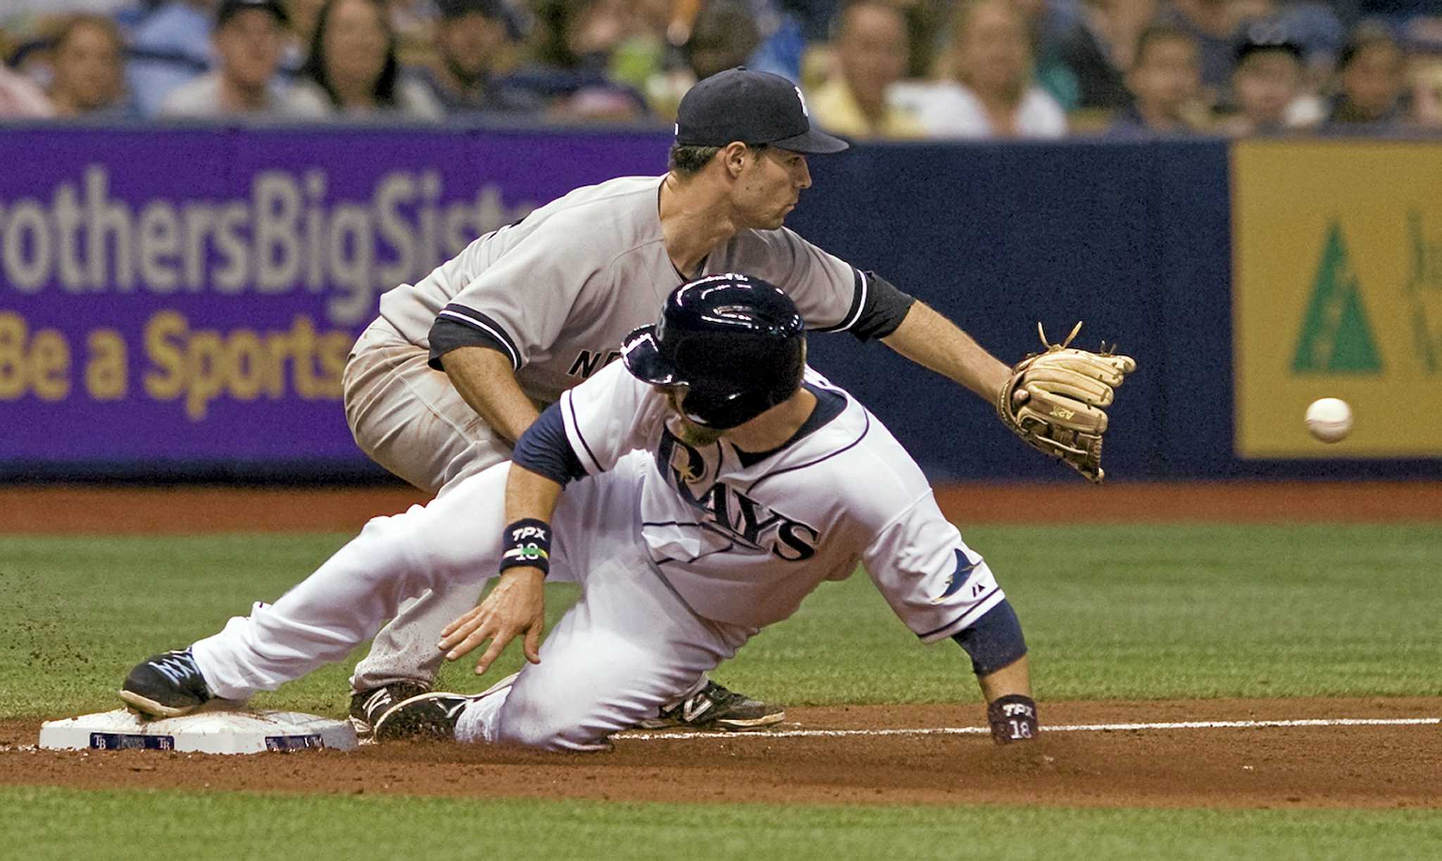
[[[104,857],[1008,861],[1428,858],[1419,811],[1146,811],[637,805],[0,787],[0,841],[26,861]],[[14,815],[16,811],[23,815]],[[373,842],[381,842],[376,848]],[[104,847],[99,852],[95,847]]]

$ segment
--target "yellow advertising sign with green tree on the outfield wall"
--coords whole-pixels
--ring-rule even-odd
[[[1231,234],[1237,454],[1442,457],[1442,144],[1239,143]]]

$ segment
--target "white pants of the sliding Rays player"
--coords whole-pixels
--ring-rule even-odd
[[[640,538],[646,469],[649,456],[633,453],[562,495],[551,570],[581,583],[581,597],[542,643],[541,663],[467,708],[459,738],[603,749],[610,733],[675,702],[756,633],[698,616],[652,564]],[[245,699],[340,661],[424,590],[464,593],[472,606],[500,560],[508,470],[497,464],[425,506],[375,518],[274,604],[196,642],[211,691]],[[430,648],[440,655],[435,640]]]

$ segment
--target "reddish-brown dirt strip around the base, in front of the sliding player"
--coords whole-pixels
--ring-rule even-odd
[[[975,724],[979,707],[795,710],[808,730]],[[1426,718],[1442,698],[1050,702],[1044,724]],[[789,724],[787,724],[789,725]],[[998,749],[983,736],[619,738],[611,753],[539,754],[460,744],[353,753],[208,756],[62,753],[35,721],[0,723],[0,785],[324,795],[588,798],[868,805],[1442,808],[1442,727],[1054,731]]]

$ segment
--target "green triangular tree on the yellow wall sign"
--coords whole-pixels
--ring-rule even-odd
[[[1361,303],[1361,283],[1332,221],[1312,281],[1312,299],[1292,356],[1296,374],[1380,374],[1381,355]]]

